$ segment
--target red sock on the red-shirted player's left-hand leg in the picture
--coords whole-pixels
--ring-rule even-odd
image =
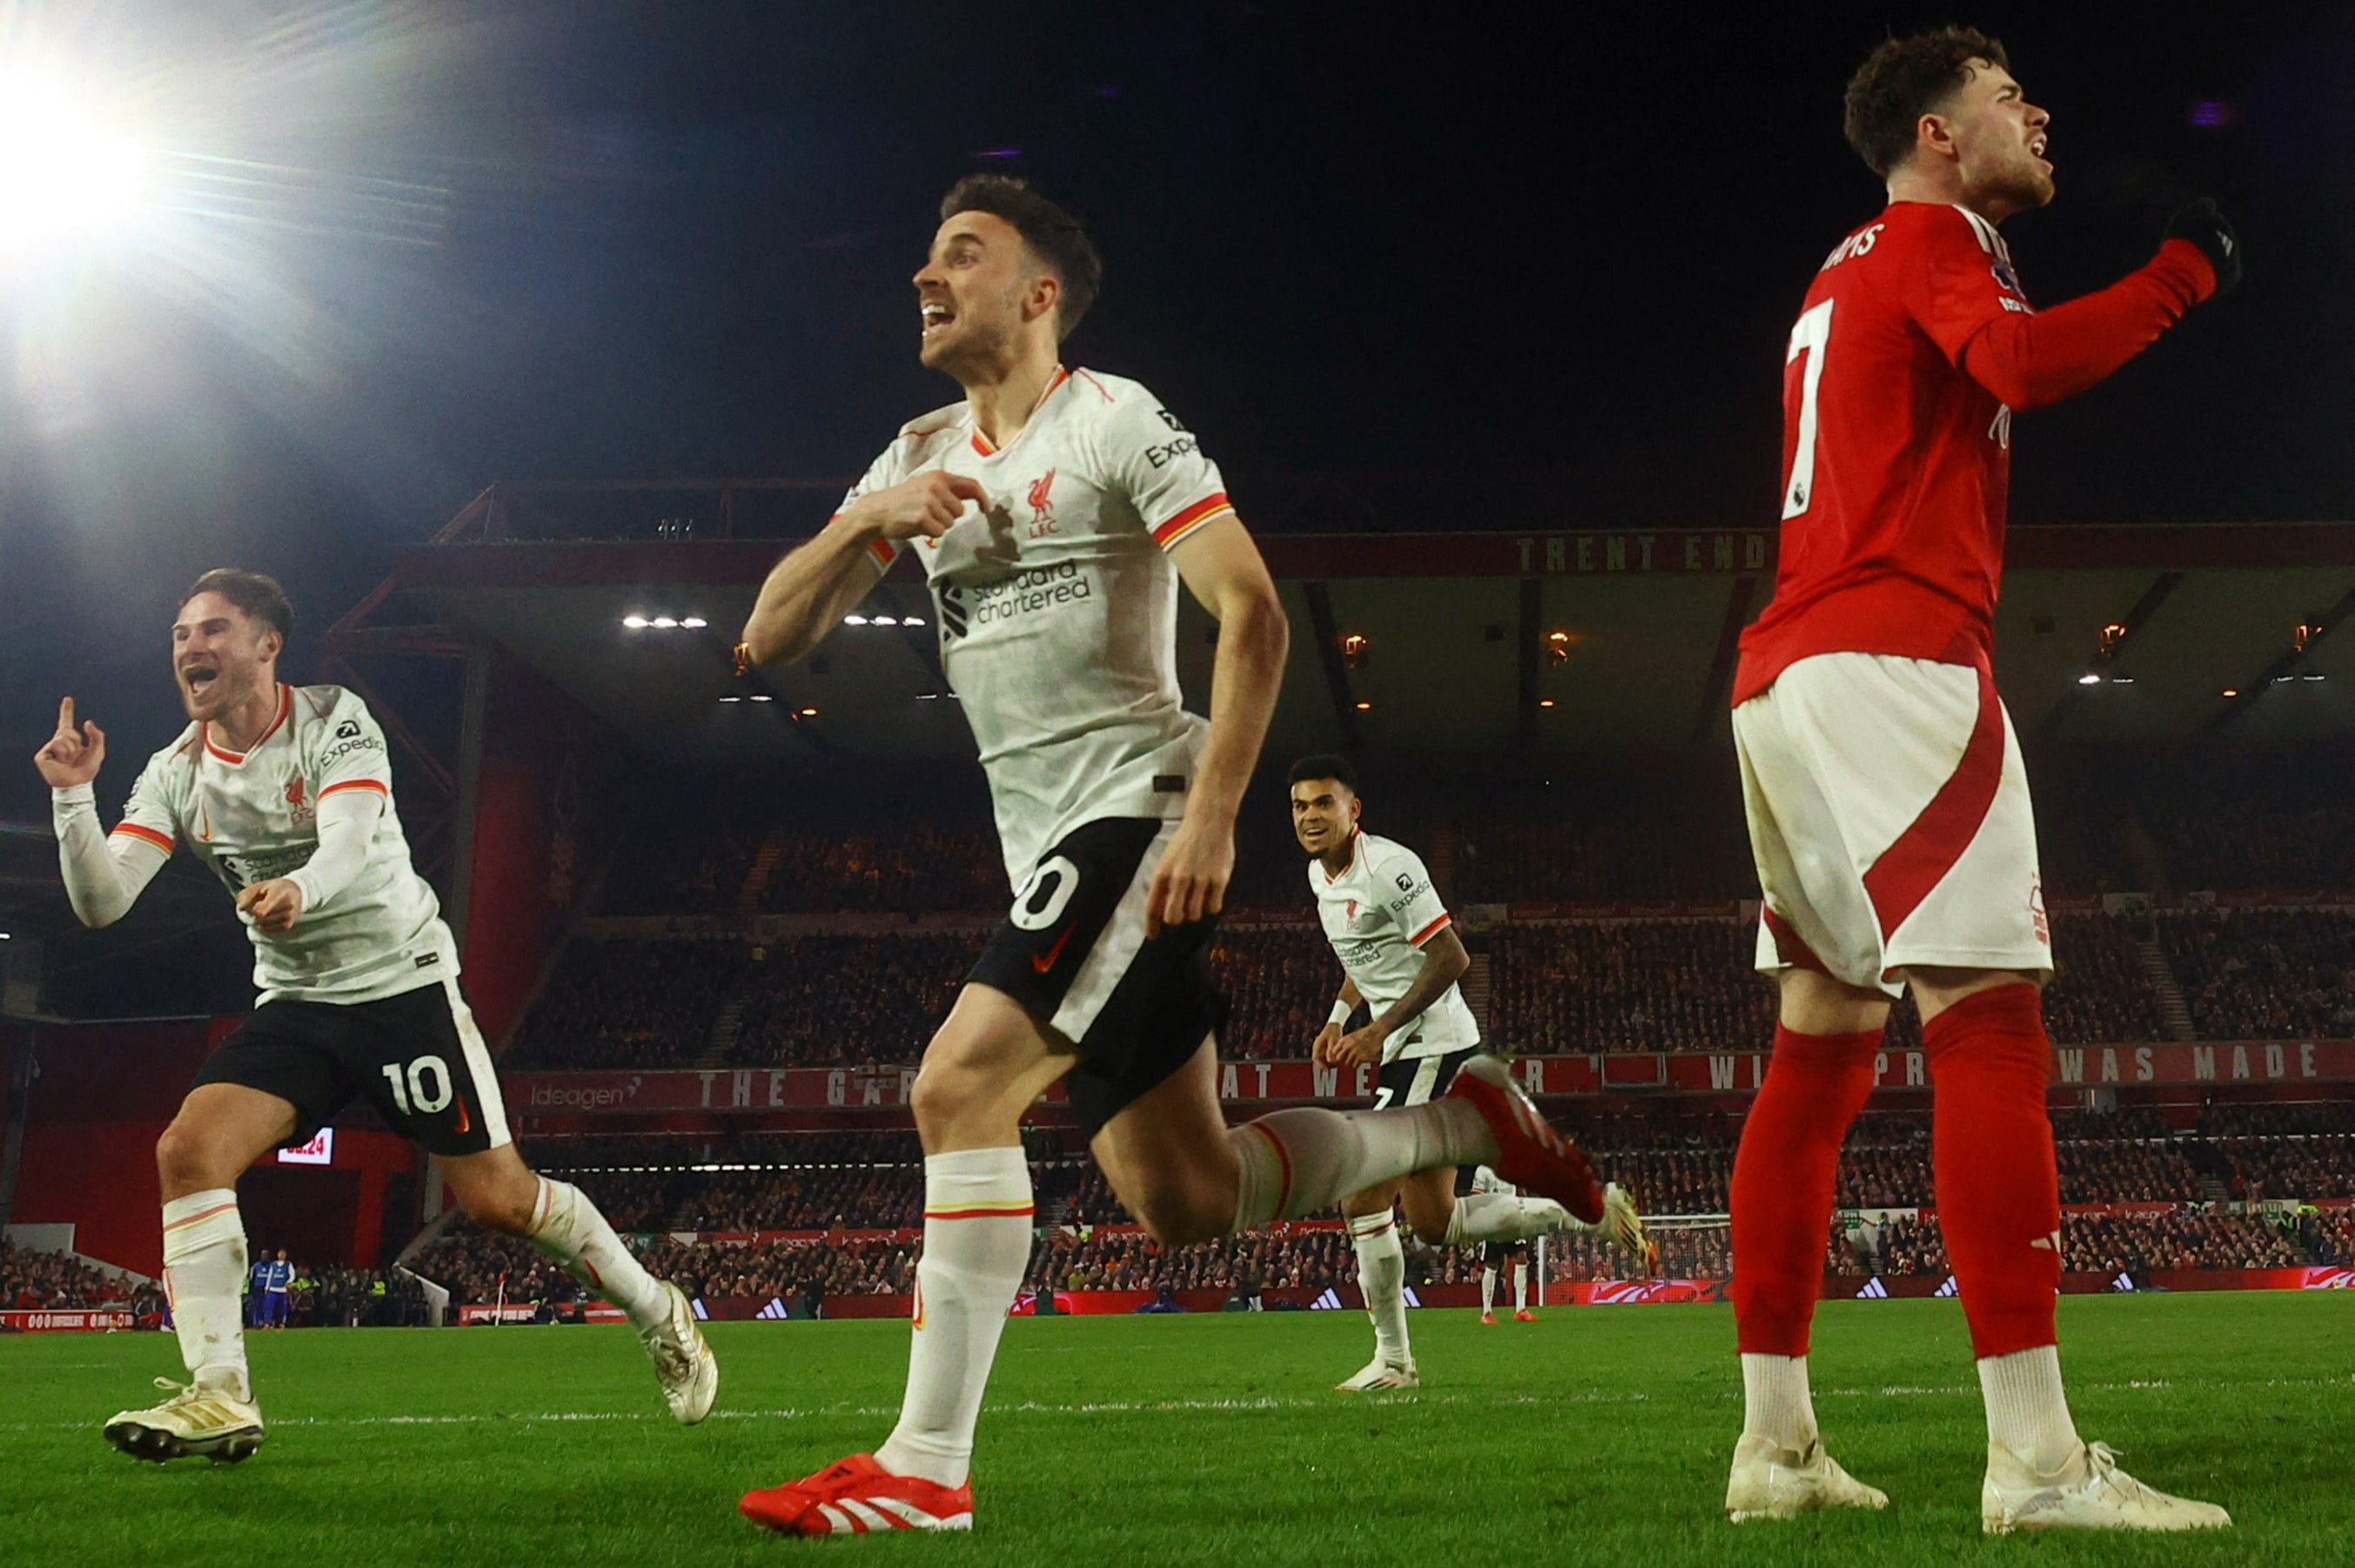
[[[1733,1151],[1733,1323],[1745,1356],[1804,1356],[1823,1293],[1839,1142],[1872,1092],[1882,1031],[1776,1024],[1766,1083]]]

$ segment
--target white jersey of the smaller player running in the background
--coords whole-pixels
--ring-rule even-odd
[[[1404,843],[1359,829],[1340,876],[1326,876],[1324,862],[1309,857],[1309,892],[1316,895],[1316,921],[1333,956],[1380,1017],[1413,989],[1422,975],[1422,944],[1448,925],[1432,873]],[[1474,1045],[1479,1024],[1472,1008],[1460,986],[1448,986],[1422,1017],[1382,1041],[1382,1059],[1441,1057]]]

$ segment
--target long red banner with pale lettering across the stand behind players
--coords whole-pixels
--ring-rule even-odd
[[[1766,1081],[1766,1052],[1625,1052],[1521,1057],[1514,1074],[1533,1095],[1750,1095]],[[1884,1090],[1926,1090],[1922,1050],[1884,1050],[1875,1062]],[[643,1116],[657,1111],[829,1111],[904,1107],[914,1067],[732,1067],[683,1071],[506,1074],[506,1104],[518,1116]],[[2214,1045],[2061,1045],[2054,1092],[2072,1088],[2202,1083],[2355,1083],[2355,1041],[2225,1041]],[[1227,1104],[1371,1102],[1373,1067],[1309,1062],[1222,1062],[1218,1095]],[[1062,1088],[1046,1104],[1062,1102]]]

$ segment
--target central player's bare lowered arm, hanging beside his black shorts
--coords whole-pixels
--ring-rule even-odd
[[[1225,497],[1220,497],[1225,506]],[[1293,626],[1283,600],[1234,511],[1192,527],[1170,553],[1187,591],[1218,622],[1218,657],[1210,664],[1210,735],[1203,739],[1185,819],[1168,855],[1154,871],[1145,899],[1145,932],[1185,925],[1218,913],[1234,878],[1234,815],[1243,786],[1260,763],[1267,720],[1283,685],[1283,655]]]

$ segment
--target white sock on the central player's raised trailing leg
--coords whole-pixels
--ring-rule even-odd
[[[1234,1229],[1305,1220],[1434,1165],[1486,1165],[1495,1135],[1465,1099],[1432,1099],[1399,1111],[1274,1111],[1227,1132],[1243,1165]]]

